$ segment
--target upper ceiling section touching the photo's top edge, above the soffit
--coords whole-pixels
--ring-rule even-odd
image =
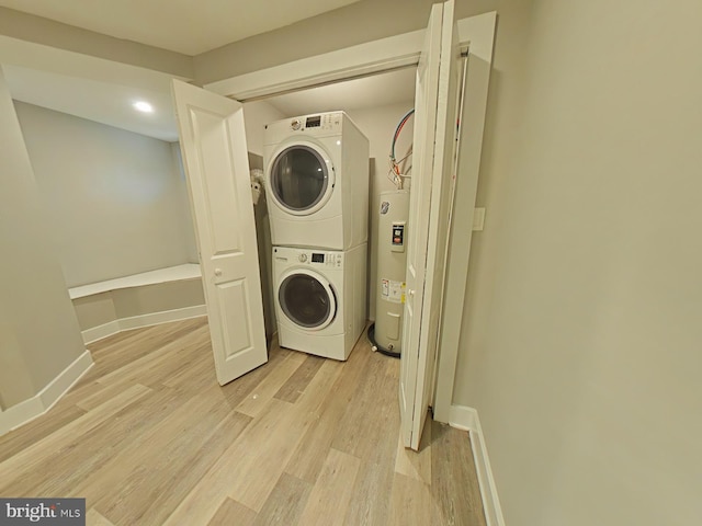
[[[359,0],[0,0],[0,5],[185,55]]]

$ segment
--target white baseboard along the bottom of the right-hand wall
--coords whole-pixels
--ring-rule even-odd
[[[477,469],[487,526],[505,526],[505,517],[497,495],[497,485],[492,477],[477,410],[465,405],[451,405],[449,425],[471,433],[473,459]]]

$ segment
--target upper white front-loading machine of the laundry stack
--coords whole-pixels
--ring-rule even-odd
[[[274,245],[349,250],[367,242],[369,140],[343,112],[265,126]]]

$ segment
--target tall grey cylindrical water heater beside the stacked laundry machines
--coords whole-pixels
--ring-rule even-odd
[[[378,213],[375,343],[378,348],[399,353],[405,308],[409,190],[383,192]]]

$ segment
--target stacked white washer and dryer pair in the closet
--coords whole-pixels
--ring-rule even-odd
[[[365,327],[369,140],[343,112],[264,132],[282,347],[344,361]]]

